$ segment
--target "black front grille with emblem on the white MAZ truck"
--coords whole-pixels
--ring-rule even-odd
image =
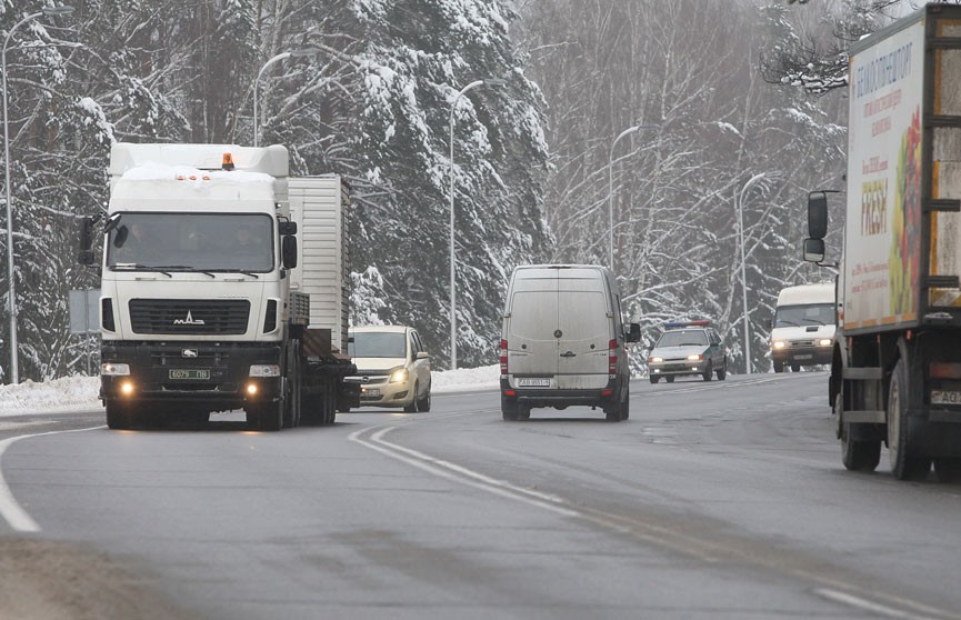
[[[250,316],[246,299],[131,299],[129,309],[137,333],[242,334]]]

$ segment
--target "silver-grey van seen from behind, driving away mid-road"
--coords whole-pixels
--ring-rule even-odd
[[[600,407],[627,420],[628,342],[641,328],[621,319],[618,284],[605,267],[529,264],[514,269],[501,331],[501,412],[525,420],[531,408]]]

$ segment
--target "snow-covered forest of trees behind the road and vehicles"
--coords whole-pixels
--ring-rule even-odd
[[[707,318],[743,371],[747,311],[750,361],[767,371],[779,290],[834,276],[800,246],[808,192],[841,188],[844,50],[910,4],[68,3],[50,16],[59,0],[0,0],[20,380],[88,372],[96,336],[71,333],[68,298],[99,286],[76,262],[78,222],[106,208],[110,144],[251,146],[254,88],[259,143],[287,146],[292,173],[351,184],[353,324],[411,324],[448,368],[452,171],[459,366],[495,363],[514,266],[608,264],[612,237],[645,341],[665,320]],[[264,67],[296,50],[312,53]],[[461,92],[491,78],[503,83]]]

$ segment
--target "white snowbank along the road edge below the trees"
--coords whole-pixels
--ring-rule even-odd
[[[497,388],[499,380],[498,364],[436,371],[431,378],[431,391],[446,393]],[[99,389],[99,377],[66,377],[40,383],[24,381],[17,386],[0,386],[0,417],[97,410],[101,408],[100,400],[97,399]]]

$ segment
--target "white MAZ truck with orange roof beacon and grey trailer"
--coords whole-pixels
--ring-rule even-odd
[[[108,210],[80,243],[101,269],[110,428],[243,409],[276,431],[359,404],[344,381],[349,188],[288,172],[281,146],[112,147]]]

